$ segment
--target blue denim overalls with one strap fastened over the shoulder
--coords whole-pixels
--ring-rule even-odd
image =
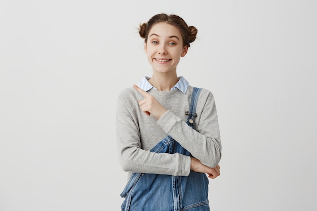
[[[194,118],[201,89],[194,88],[187,124],[195,129]],[[194,140],[193,140],[194,141]],[[191,156],[171,136],[165,137],[151,150],[155,153],[181,153]],[[189,176],[133,173],[121,197],[122,211],[210,211],[206,174],[190,171]]]

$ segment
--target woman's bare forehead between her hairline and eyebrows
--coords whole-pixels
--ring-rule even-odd
[[[178,36],[180,39],[182,38],[177,27],[163,22],[153,25],[148,35],[150,36],[151,34],[157,34],[162,37]]]

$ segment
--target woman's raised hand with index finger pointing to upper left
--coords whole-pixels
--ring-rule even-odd
[[[139,100],[141,110],[146,114],[152,114],[157,120],[159,120],[167,110],[157,101],[152,95],[148,94],[138,86],[133,85],[134,89],[138,91],[143,97],[143,100]]]

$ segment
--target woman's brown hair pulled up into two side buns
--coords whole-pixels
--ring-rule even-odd
[[[179,29],[183,38],[183,46],[189,47],[189,44],[196,39],[197,29],[194,26],[188,26],[186,22],[177,15],[167,15],[162,13],[154,15],[147,23],[140,24],[139,34],[145,39],[145,43],[147,41],[148,33],[153,25],[161,22],[171,24]]]

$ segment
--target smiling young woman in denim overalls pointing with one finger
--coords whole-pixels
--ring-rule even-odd
[[[210,210],[207,175],[220,175],[221,158],[214,97],[176,72],[197,29],[157,14],[139,34],[153,73],[117,100],[118,156],[130,172],[122,210]]]

